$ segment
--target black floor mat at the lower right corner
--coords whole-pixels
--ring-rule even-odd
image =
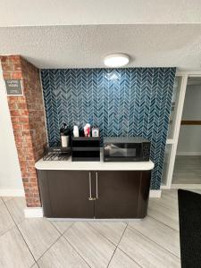
[[[201,195],[178,190],[182,268],[201,267]]]

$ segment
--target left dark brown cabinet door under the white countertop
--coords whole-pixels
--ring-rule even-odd
[[[51,206],[51,214],[46,216],[94,218],[94,201],[88,200],[89,172],[47,171],[46,180]]]

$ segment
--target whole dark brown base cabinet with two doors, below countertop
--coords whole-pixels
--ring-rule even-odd
[[[44,216],[49,218],[143,218],[150,171],[38,170]]]

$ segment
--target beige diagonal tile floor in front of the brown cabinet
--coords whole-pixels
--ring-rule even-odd
[[[25,219],[22,197],[0,197],[0,267],[180,267],[176,190],[136,222]]]

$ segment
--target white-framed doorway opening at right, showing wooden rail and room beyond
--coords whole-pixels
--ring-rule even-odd
[[[172,188],[201,188],[201,77],[188,77]]]

